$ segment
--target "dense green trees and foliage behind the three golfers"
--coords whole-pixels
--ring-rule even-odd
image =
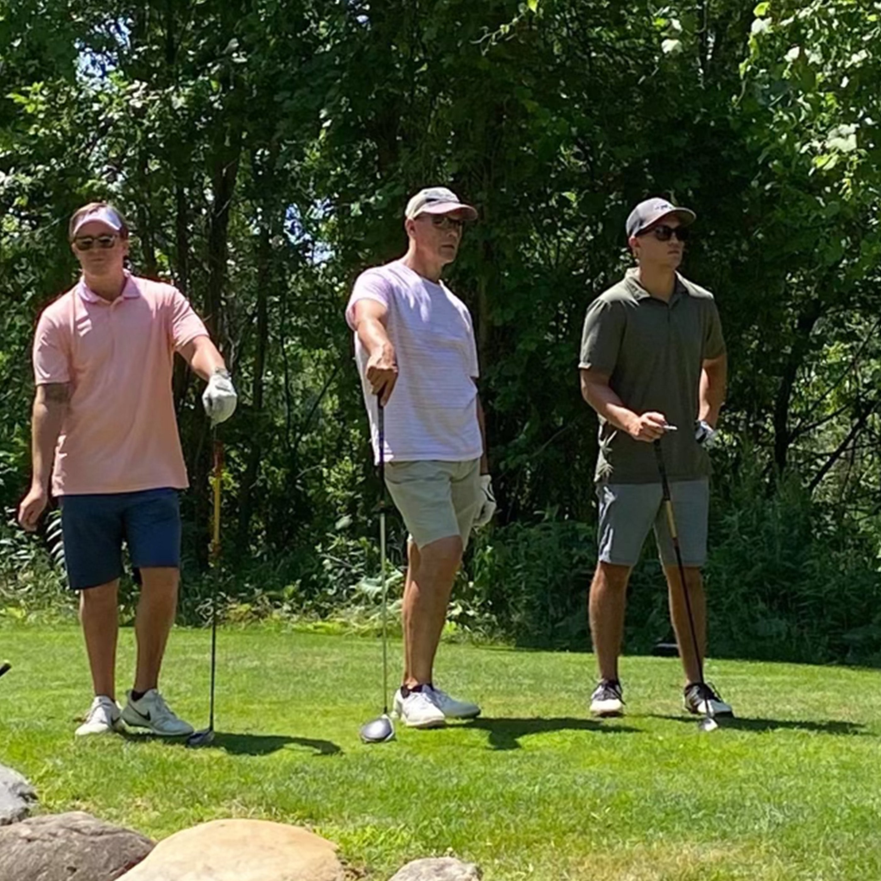
[[[461,623],[584,646],[581,320],[626,266],[627,211],[669,194],[700,215],[686,272],[717,295],[732,371],[714,645],[877,660],[879,37],[853,0],[0,0],[4,507],[27,481],[33,322],[74,277],[65,221],[107,196],[137,270],[207,316],[241,393],[230,596],[355,602],[377,489],[342,309],[359,270],[403,250],[405,197],[447,183],[481,212],[450,278],[475,316],[501,503]],[[208,505],[197,385],[181,370],[188,613]],[[4,535],[15,604],[34,558]],[[664,635],[656,570],[634,583],[631,646]]]

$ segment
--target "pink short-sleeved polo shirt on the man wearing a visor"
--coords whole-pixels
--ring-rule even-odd
[[[43,310],[37,385],[70,383],[52,492],[137,492],[188,485],[172,395],[174,352],[204,324],[171,285],[129,275],[103,300],[80,279]]]

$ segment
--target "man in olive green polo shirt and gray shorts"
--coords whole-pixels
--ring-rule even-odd
[[[707,557],[707,447],[725,396],[727,366],[713,295],[677,273],[694,218],[693,211],[666,199],[638,204],[626,223],[637,265],[590,304],[584,322],[581,394],[600,418],[599,560],[589,600],[600,676],[590,709],[599,716],[622,713],[618,655],[627,581],[653,528],[685,669],[685,709],[732,714],[701,682],[652,448],[654,441],[662,441],[685,586],[703,655],[707,602],[700,567]]]

